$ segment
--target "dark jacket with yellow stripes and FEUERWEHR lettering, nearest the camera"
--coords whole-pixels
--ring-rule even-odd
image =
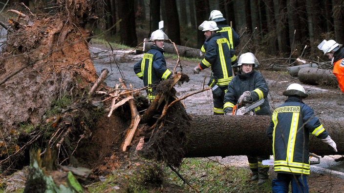
[[[309,134],[328,136],[314,111],[300,97],[291,96],[272,114],[267,135],[273,139],[277,173],[309,175]]]

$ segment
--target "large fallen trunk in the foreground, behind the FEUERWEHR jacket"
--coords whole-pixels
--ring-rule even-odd
[[[187,132],[185,157],[272,154],[266,135],[270,116],[196,115]],[[344,154],[344,122],[321,120],[337,143],[338,153],[311,135],[309,150],[318,155]]]

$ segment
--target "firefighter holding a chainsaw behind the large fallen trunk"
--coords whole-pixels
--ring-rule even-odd
[[[259,64],[254,54],[247,52],[239,57],[237,66],[240,70],[228,85],[228,91],[224,97],[224,113],[232,115],[233,108],[242,105],[245,100],[258,101],[264,98],[264,102],[258,106],[255,115],[271,115],[268,101],[268,86],[264,77],[253,70]],[[262,160],[269,159],[270,155],[250,156],[247,155],[250,169],[252,171],[251,180],[258,180],[258,184],[263,184],[268,179],[269,166],[262,165]]]

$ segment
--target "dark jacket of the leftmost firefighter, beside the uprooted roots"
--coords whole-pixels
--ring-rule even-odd
[[[156,95],[154,85],[172,75],[172,72],[166,66],[163,52],[163,49],[152,45],[151,50],[144,54],[142,59],[134,65],[136,76],[143,79],[145,86],[152,86],[147,90],[150,100],[153,100]]]

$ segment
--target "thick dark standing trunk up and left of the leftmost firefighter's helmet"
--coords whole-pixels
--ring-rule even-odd
[[[135,26],[135,11],[134,1],[118,0],[118,18],[122,19],[120,22],[121,29],[121,43],[131,47],[137,45],[136,26]]]

